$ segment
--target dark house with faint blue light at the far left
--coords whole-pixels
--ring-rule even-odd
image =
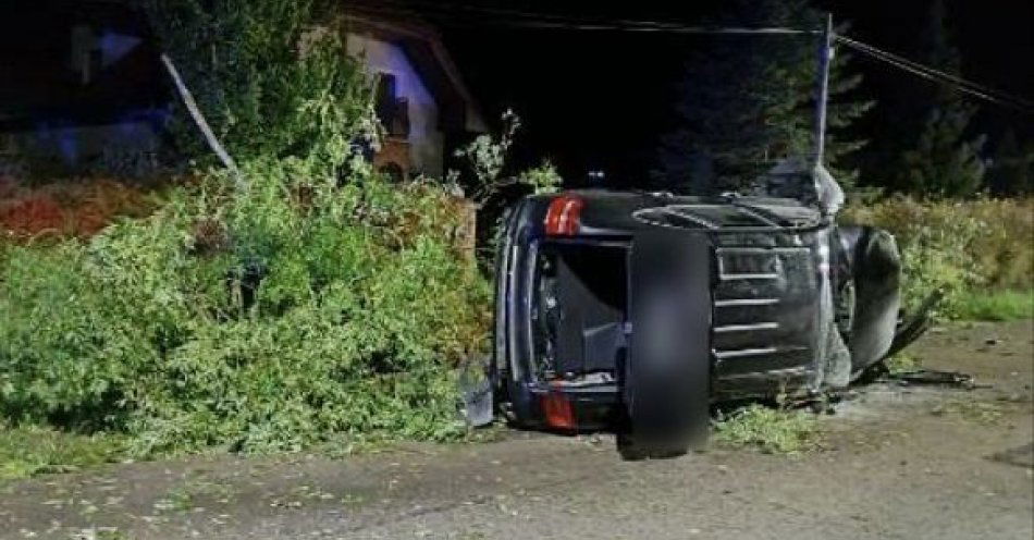
[[[169,97],[146,35],[113,1],[0,8],[0,173],[25,156],[75,172],[153,161]]]

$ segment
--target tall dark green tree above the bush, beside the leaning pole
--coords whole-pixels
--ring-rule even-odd
[[[345,54],[332,0],[138,0],[199,108],[238,160],[317,158],[334,171],[372,140],[372,89]],[[177,103],[179,105],[179,103]],[[185,111],[179,150],[211,161]]]

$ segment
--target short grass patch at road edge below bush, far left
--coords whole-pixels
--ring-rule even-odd
[[[116,462],[124,456],[124,447],[115,435],[0,427],[0,482]]]

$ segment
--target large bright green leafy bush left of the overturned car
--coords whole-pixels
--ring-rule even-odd
[[[0,415],[132,435],[140,455],[463,432],[454,363],[489,286],[443,191],[343,187],[301,160],[216,175],[88,243],[9,246]]]

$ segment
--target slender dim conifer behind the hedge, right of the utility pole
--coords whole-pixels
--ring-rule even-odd
[[[921,62],[958,75],[959,51],[949,39],[944,0],[931,3],[923,36]],[[962,101],[958,90],[938,86],[930,98],[926,121],[914,146],[901,155],[898,186],[920,196],[968,197],[984,182],[983,135],[969,138],[976,108]]]

